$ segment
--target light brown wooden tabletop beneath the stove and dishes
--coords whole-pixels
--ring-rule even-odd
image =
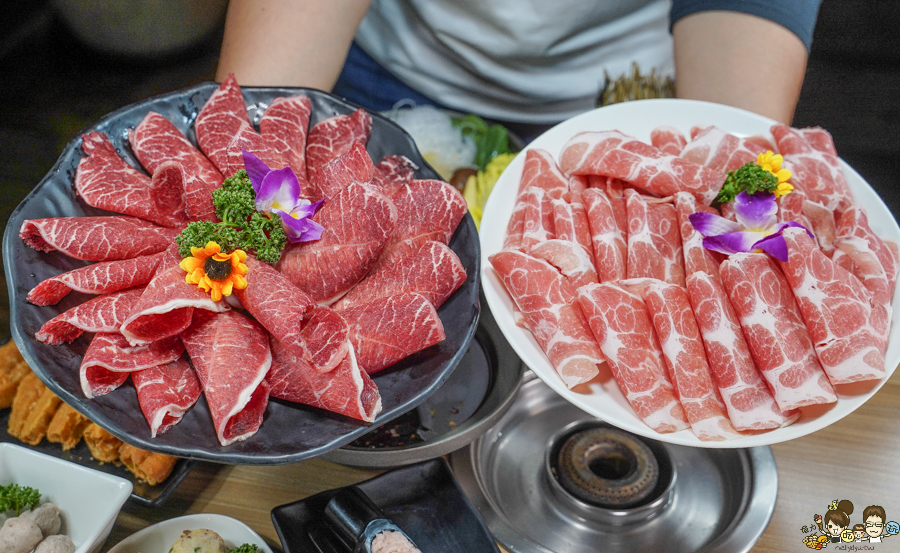
[[[881,505],[889,520],[900,519],[900,371],[875,396],[841,421],[809,436],[772,446],[778,465],[778,500],[768,528],[752,551],[808,551],[803,526],[825,514],[832,500],[863,509]],[[102,552],[150,524],[193,513],[219,513],[245,522],[276,550],[273,507],[379,474],[320,459],[282,466],[224,466],[200,463],[161,507],[126,505]],[[808,532],[807,532],[808,533]],[[872,545],[884,551],[897,544]],[[868,544],[857,544],[868,545]],[[564,552],[560,552],[564,553]]]

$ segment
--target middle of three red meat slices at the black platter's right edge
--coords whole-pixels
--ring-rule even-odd
[[[448,246],[431,240],[394,263],[381,265],[332,307],[354,305],[403,292],[417,292],[439,308],[466,280],[466,269]]]

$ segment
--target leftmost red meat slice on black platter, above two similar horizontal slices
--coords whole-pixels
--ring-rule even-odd
[[[161,252],[179,232],[136,217],[54,217],[23,222],[19,236],[38,251],[115,261]]]

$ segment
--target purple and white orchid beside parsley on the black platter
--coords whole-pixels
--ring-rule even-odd
[[[307,242],[322,237],[325,228],[311,219],[324,200],[312,203],[300,197],[300,181],[293,169],[269,169],[258,157],[241,150],[244,168],[256,192],[256,209],[281,215],[290,242]]]

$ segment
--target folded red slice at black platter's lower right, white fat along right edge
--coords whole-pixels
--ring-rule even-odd
[[[356,363],[353,348],[333,371],[314,370],[278,340],[270,338],[272,369],[266,377],[272,397],[325,409],[364,422],[381,412],[378,387]]]

